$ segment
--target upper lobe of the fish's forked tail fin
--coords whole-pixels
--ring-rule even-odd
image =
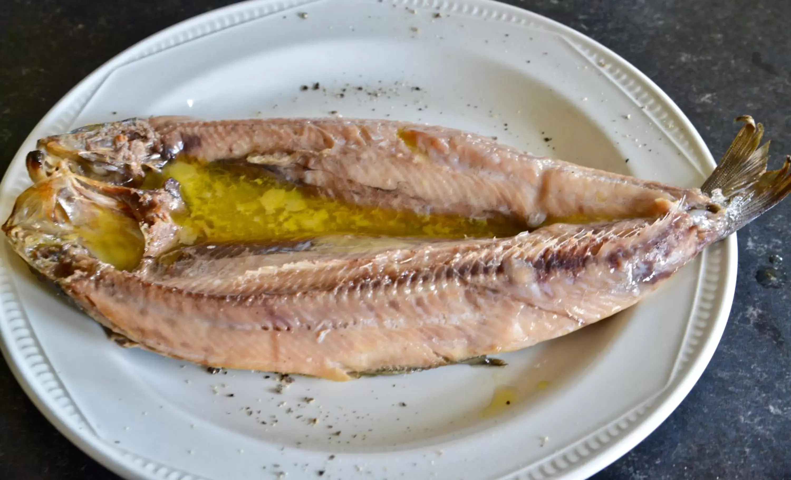
[[[725,198],[732,197],[756,183],[766,172],[769,142],[759,148],[763,125],[755,123],[750,115],[742,115],[736,121],[744,122],[744,127],[736,134],[717,168],[700,187],[710,197],[717,197],[717,189]]]

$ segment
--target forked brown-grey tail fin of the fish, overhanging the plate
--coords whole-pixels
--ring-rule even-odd
[[[744,127],[736,134],[728,151],[701,191],[725,207],[727,227],[720,238],[747,225],[791,193],[791,156],[778,170],[766,171],[769,142],[759,146],[763,125],[749,115],[737,121]]]

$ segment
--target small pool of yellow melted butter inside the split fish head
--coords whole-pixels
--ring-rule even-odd
[[[74,232],[97,259],[119,270],[132,270],[143,255],[144,240],[134,218],[108,208],[83,212]]]

